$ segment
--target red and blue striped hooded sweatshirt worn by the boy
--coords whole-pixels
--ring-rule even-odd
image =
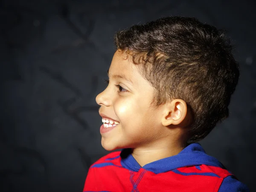
[[[102,157],[87,174],[84,192],[248,192],[216,158],[199,143],[179,154],[141,167],[131,149]]]

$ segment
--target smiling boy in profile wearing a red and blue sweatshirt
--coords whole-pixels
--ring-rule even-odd
[[[248,191],[195,143],[227,118],[239,79],[225,35],[166,17],[118,32],[115,44],[96,102],[102,146],[123,150],[90,167],[84,192]]]

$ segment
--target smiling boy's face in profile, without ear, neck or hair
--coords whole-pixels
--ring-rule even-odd
[[[108,87],[96,97],[101,105],[100,115],[119,122],[115,127],[101,127],[102,146],[106,150],[150,146],[163,137],[161,109],[151,104],[154,87],[143,79],[131,60],[125,58],[119,51],[114,54],[108,71]]]

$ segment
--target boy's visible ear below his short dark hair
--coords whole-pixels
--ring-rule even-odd
[[[174,99],[166,103],[162,116],[163,126],[179,125],[187,115],[187,105],[182,99]]]

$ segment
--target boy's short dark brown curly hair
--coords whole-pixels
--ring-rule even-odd
[[[239,66],[224,31],[195,18],[164,17],[117,32],[114,39],[117,50],[141,64],[141,75],[156,90],[156,106],[186,102],[193,116],[188,143],[228,117]]]

